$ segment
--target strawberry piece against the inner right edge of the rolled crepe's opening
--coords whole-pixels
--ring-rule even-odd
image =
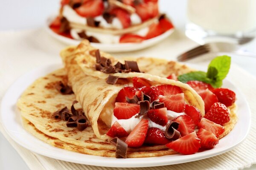
[[[184,112],[186,113],[186,115],[191,117],[191,119],[193,120],[195,126],[197,126],[198,123],[200,122],[200,120],[202,119],[202,115],[201,115],[199,109],[195,108],[192,105],[185,104]]]

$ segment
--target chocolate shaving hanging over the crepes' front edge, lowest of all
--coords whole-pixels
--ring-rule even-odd
[[[118,137],[111,139],[113,144],[116,144],[116,158],[126,158],[128,145]]]

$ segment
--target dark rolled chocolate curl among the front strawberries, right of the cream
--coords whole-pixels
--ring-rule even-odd
[[[172,121],[166,125],[166,130],[164,132],[166,138],[176,140],[180,138],[180,132],[177,130],[180,123]]]

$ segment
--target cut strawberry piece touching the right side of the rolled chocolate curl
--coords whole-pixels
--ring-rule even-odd
[[[177,130],[180,132],[181,136],[185,136],[195,130],[193,120],[187,115],[178,116],[174,121],[180,123]]]

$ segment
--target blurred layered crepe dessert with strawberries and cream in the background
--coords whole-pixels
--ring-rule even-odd
[[[55,33],[98,43],[142,42],[173,28],[157,0],[61,0]]]

